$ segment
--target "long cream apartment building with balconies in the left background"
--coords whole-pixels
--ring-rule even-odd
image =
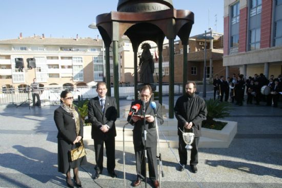
[[[0,40],[0,82],[3,87],[24,87],[37,82],[59,86],[84,86],[103,80],[103,40],[42,36]],[[16,67],[22,58],[23,68]],[[34,58],[36,68],[28,67]],[[110,55],[112,66],[112,55]],[[111,68],[112,69],[112,68]]]

